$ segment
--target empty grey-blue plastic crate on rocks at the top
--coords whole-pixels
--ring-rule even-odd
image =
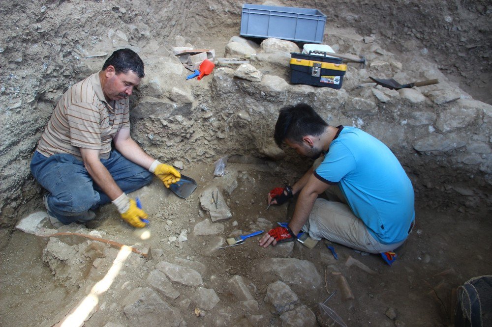
[[[243,4],[241,36],[323,43],[326,16],[317,9]]]

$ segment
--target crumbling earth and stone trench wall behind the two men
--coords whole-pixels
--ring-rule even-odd
[[[271,135],[277,110],[305,101],[332,124],[358,126],[381,138],[411,175],[417,195],[431,205],[445,203],[466,211],[490,204],[491,107],[472,100],[441,73],[490,74],[487,22],[492,9],[486,1],[467,3],[459,10],[458,4],[428,1],[424,6],[403,0],[384,5],[366,1],[370,7],[346,1],[320,8],[329,16],[325,43],[336,45],[340,53],[364,53],[370,62],[366,69],[351,66],[339,92],[284,83],[289,68],[279,58],[288,57],[285,52],[251,58],[263,74],[261,82],[236,74],[236,67],[217,67],[201,84],[185,82],[188,73],[171,54],[171,46],[186,42],[210,46],[207,41],[217,42],[216,35],[227,40],[239,34],[241,20],[239,2],[185,2],[2,3],[0,226],[12,226],[39,205],[41,189],[31,177],[29,162],[62,92],[99,70],[107,54],[122,47],[131,47],[146,63],[147,76],[132,99],[133,136],[160,160],[212,162],[222,155],[245,153],[274,156]],[[277,4],[317,7],[314,1]],[[391,28],[383,28],[381,15],[386,12],[392,13]],[[400,24],[407,16],[411,19]],[[427,21],[434,26],[421,24]],[[374,24],[368,27],[365,22]],[[400,26],[404,27],[396,28]],[[359,27],[360,34],[346,27]],[[426,32],[429,28],[432,33]],[[405,55],[392,55],[385,42],[400,45]],[[432,64],[420,57],[423,48],[413,51],[412,42],[416,47],[423,43],[436,59],[449,61]],[[475,44],[479,46],[471,47]],[[429,54],[427,58],[433,59]],[[462,54],[467,60],[458,60]],[[408,55],[415,57],[403,65]],[[474,65],[479,62],[482,65]],[[374,85],[359,87],[369,75],[395,76],[399,81],[438,77],[441,84],[398,94]]]

